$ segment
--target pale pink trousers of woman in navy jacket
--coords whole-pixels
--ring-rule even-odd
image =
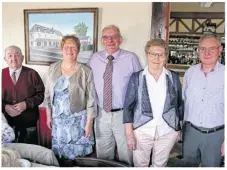
[[[136,137],[136,150],[133,151],[134,166],[148,167],[152,150],[152,166],[165,167],[179,132],[173,130],[163,136],[159,136],[157,129],[153,135],[149,134],[147,130],[146,132],[144,131],[144,128],[142,130],[140,128],[134,130]]]

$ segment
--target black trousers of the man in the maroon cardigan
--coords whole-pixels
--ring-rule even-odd
[[[38,144],[37,127],[14,127],[15,142],[16,143],[28,143]]]

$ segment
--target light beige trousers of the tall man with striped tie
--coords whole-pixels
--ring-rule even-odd
[[[99,115],[95,119],[95,140],[98,158],[113,160],[117,145],[119,161],[132,166],[132,151],[127,144],[123,111],[106,113],[99,108]]]

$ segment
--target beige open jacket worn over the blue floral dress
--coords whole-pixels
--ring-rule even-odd
[[[61,63],[62,60],[51,64],[46,77],[44,104],[49,111],[52,108],[54,86],[62,76]],[[78,63],[78,71],[69,78],[69,100],[72,113],[87,110],[87,114],[92,118],[97,116],[92,70],[82,63]]]

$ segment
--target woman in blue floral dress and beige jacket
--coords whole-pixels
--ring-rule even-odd
[[[92,153],[95,92],[91,69],[77,61],[79,39],[64,36],[61,49],[63,60],[50,65],[46,78],[47,126],[56,156],[73,160]]]

